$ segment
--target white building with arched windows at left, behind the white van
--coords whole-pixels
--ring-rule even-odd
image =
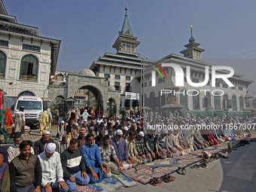
[[[47,97],[59,44],[59,40],[39,36],[37,27],[17,23],[0,1],[0,88],[7,93],[8,108],[17,96]]]

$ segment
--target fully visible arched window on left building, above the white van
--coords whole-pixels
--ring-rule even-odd
[[[38,80],[38,58],[32,54],[25,55],[20,61],[20,79]]]

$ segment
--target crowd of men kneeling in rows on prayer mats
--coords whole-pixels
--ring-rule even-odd
[[[187,155],[197,149],[251,136],[255,122],[255,114],[251,117],[133,115],[121,119],[98,115],[90,122],[83,118],[76,123],[62,120],[56,136],[59,142],[53,140],[49,131],[44,131],[34,145],[22,141],[20,133],[15,134],[14,145],[8,148],[9,165],[4,170],[0,155],[2,181],[10,178],[7,183],[11,191],[76,191],[77,184],[101,182],[111,174],[139,164]],[[243,126],[230,129],[235,123],[245,124],[246,129]],[[215,125],[217,129],[200,130],[198,126],[182,129],[184,125],[203,124]],[[164,125],[178,129],[163,129]]]

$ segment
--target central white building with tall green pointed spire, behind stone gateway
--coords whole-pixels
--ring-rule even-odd
[[[128,8],[126,7],[125,10],[127,11]],[[140,42],[133,36],[126,13],[123,27],[113,44],[117,53],[105,53],[90,66],[96,77],[108,78],[108,85],[113,90],[120,91],[120,108],[130,109],[142,105],[141,78],[134,77],[141,76],[143,66],[148,66],[152,60],[139,57],[140,54],[136,53],[139,44]]]

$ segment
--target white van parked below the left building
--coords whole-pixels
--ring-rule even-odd
[[[14,111],[19,111],[20,107],[24,108],[26,125],[37,125],[39,123],[39,117],[43,113],[43,102],[40,97],[20,96],[17,99]]]

